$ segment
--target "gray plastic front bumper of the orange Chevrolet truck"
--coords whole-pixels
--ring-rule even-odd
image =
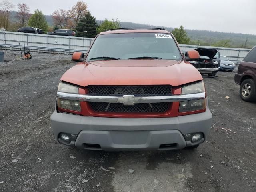
[[[101,148],[98,150],[167,150],[203,142],[212,124],[212,114],[207,108],[204,113],[172,118],[106,118],[55,110],[51,121],[54,136],[59,142],[60,133],[76,134],[76,141],[69,145],[80,149],[98,149],[85,144],[99,144]],[[195,132],[202,132],[204,139],[194,144],[184,140],[183,134]],[[161,144],[175,146],[160,148]]]

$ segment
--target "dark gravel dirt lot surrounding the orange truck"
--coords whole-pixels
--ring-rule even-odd
[[[198,149],[82,151],[58,144],[50,127],[71,56],[19,54],[6,51],[0,64],[1,192],[256,191],[256,103],[240,99],[234,73],[204,80],[214,126]]]

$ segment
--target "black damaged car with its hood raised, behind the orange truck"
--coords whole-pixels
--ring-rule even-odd
[[[190,61],[190,63],[201,73],[208,76],[216,76],[218,72],[218,61],[214,60],[217,50],[213,48],[194,49],[200,54],[200,58]]]

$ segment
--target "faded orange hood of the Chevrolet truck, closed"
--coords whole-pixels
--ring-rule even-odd
[[[189,63],[175,60],[107,60],[79,63],[66,71],[62,81],[88,85],[172,85],[202,80]]]

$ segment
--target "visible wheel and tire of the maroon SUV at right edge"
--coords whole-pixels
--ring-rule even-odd
[[[256,86],[252,79],[246,79],[240,85],[240,97],[246,102],[256,101]]]

